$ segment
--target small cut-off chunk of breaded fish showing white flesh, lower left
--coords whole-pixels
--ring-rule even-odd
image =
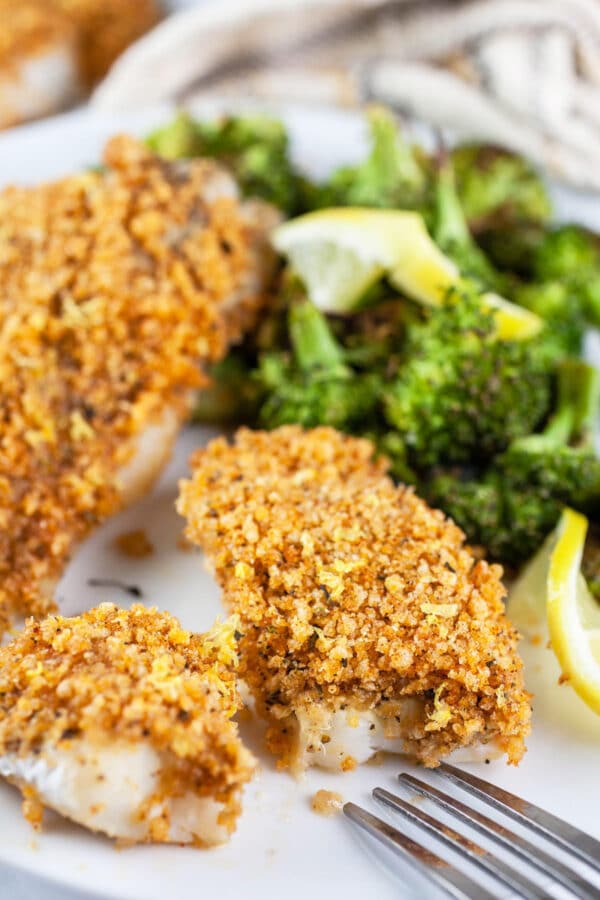
[[[255,761],[229,620],[204,635],[156,609],[103,603],[29,620],[0,649],[0,775],[40,827],[48,807],[128,842],[220,844]]]

